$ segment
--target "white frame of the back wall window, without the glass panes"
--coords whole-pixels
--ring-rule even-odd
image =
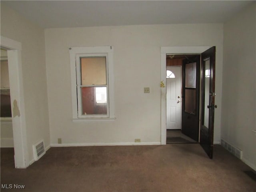
[[[113,121],[114,114],[114,64],[113,64],[113,47],[72,47],[70,52],[70,69],[71,69],[71,90],[72,90],[72,121]],[[80,98],[80,58],[106,56],[106,81],[107,81],[107,115],[82,115],[81,98]],[[80,81],[80,82],[79,82]],[[93,85],[92,85],[93,86]],[[101,85],[102,86],[102,85]]]

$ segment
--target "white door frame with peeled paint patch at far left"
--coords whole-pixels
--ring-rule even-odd
[[[29,156],[22,78],[22,44],[3,36],[0,36],[0,38],[1,47],[7,49],[9,77],[11,77],[9,80],[12,107],[12,131],[14,140],[15,168],[26,168],[29,166]]]

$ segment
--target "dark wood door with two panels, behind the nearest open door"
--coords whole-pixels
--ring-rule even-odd
[[[200,55],[182,63],[182,133],[198,142]]]

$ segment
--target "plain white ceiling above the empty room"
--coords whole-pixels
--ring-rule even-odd
[[[42,28],[223,23],[252,1],[3,1]]]

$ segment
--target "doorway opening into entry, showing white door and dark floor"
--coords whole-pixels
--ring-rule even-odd
[[[184,134],[186,127],[182,129],[182,63],[196,57],[197,54],[166,55],[166,144],[198,143]]]

